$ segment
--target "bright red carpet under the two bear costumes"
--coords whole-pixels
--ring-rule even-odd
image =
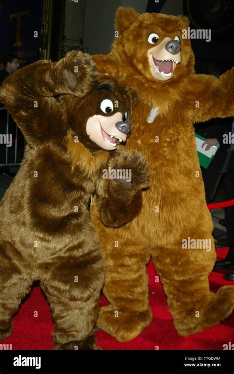
[[[227,248],[217,250],[218,260],[226,256]],[[220,270],[219,270],[220,271]],[[234,314],[228,320],[206,329],[203,333],[191,337],[180,337],[174,329],[172,317],[168,311],[166,297],[161,283],[155,283],[156,271],[152,261],[147,268],[150,288],[150,305],[153,321],[143,333],[127,343],[119,343],[115,338],[97,331],[98,344],[103,349],[223,349],[223,344],[234,341]],[[211,291],[217,291],[223,285],[234,285],[223,276],[227,270],[210,274]],[[106,305],[104,297],[101,304]],[[34,312],[38,311],[38,318]],[[32,289],[22,302],[19,312],[14,317],[13,333],[1,343],[12,344],[12,349],[53,349],[50,337],[53,323],[48,303],[39,286]]]

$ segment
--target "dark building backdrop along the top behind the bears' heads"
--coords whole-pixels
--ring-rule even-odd
[[[139,13],[189,16],[191,28],[212,30],[210,42],[192,40],[197,70],[211,64],[222,73],[233,65],[233,0],[0,0],[0,57],[14,51],[22,64],[38,58],[57,60],[78,44],[91,54],[107,54],[120,5],[132,6]],[[26,14],[17,26],[12,14],[20,12]],[[19,34],[22,44],[16,45]]]

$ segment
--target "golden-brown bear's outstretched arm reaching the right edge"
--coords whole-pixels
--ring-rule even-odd
[[[193,122],[234,115],[234,68],[219,78],[192,75],[186,79],[185,109]]]

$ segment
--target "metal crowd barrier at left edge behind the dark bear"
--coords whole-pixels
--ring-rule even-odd
[[[7,111],[6,108],[2,107],[0,108],[0,114],[5,111],[6,112],[6,124],[5,124],[5,135],[7,137],[7,135],[10,135],[9,134],[9,118],[10,118],[10,115]],[[3,117],[3,116],[2,116]],[[7,147],[7,144],[0,144],[0,147],[4,147],[5,146],[5,163],[2,163],[2,159],[0,159],[0,167],[1,166],[19,166],[20,165],[20,162],[17,162],[17,151],[18,151],[18,126],[16,125],[16,123],[13,122],[12,120],[12,124],[15,126],[15,139],[12,140],[12,145],[14,143],[15,145],[15,150],[14,150],[14,162],[9,162],[9,154],[8,154],[8,148]],[[2,126],[2,123],[1,123],[1,118],[0,118],[0,134],[3,134],[3,128],[4,128],[4,124]],[[11,134],[12,135],[12,138],[13,138],[13,133]],[[24,148],[25,148],[25,143],[24,143]],[[21,160],[20,160],[21,161]]]

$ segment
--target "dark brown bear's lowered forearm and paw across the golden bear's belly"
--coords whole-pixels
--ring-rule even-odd
[[[106,174],[104,174],[106,173]],[[97,188],[100,218],[106,226],[119,227],[133,220],[142,207],[142,189],[150,185],[143,156],[117,152],[103,171]]]

